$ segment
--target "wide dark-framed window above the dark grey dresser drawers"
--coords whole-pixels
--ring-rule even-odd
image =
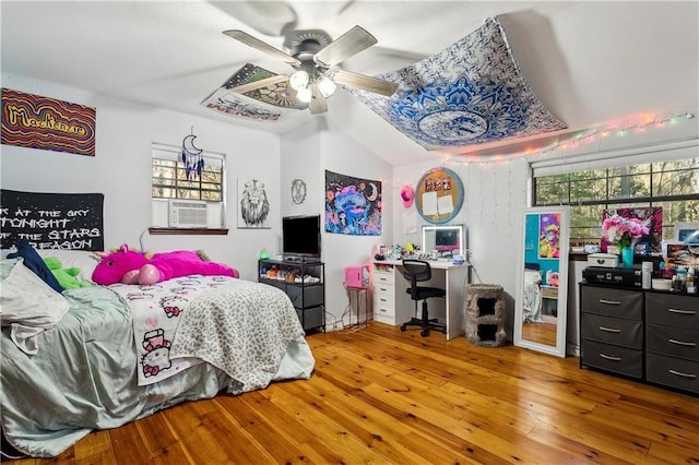
[[[576,171],[576,165],[568,170]],[[663,240],[674,238],[675,223],[699,220],[699,158],[540,176],[536,171],[534,168],[533,205],[570,205],[570,239],[574,241],[602,237],[602,214],[607,208],[661,206]]]

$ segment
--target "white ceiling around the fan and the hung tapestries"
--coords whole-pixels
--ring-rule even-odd
[[[266,11],[262,21],[260,11]],[[322,119],[405,165],[427,152],[345,92],[329,112],[307,110],[281,123],[218,116],[200,102],[244,63],[288,72],[222,34],[241,28],[284,48],[283,26],[321,28],[336,38],[355,24],[378,44],[343,68],[378,74],[436,53],[499,16],[514,58],[542,103],[567,131],[530,138],[545,146],[613,121],[696,110],[699,1],[1,1],[3,73],[272,132]],[[552,139],[552,136],[554,139]],[[556,139],[557,138],[557,139]],[[535,139],[533,142],[531,139]],[[506,141],[452,150],[493,155],[523,150]]]

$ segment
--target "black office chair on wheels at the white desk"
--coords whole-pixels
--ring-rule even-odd
[[[401,331],[405,331],[407,326],[419,326],[423,329],[419,335],[423,337],[429,336],[429,330],[440,330],[442,333],[447,333],[447,325],[438,323],[437,319],[430,319],[427,312],[427,299],[431,297],[445,297],[447,293],[445,289],[438,287],[418,286],[417,283],[429,281],[433,277],[433,269],[429,262],[423,260],[403,260],[403,276],[411,282],[411,287],[405,289],[411,298],[415,301],[415,317],[401,325]],[[422,318],[417,318],[417,302],[423,301],[423,314]]]

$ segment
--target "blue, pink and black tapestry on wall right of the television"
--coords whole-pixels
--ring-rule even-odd
[[[381,236],[381,181],[325,170],[325,231]]]

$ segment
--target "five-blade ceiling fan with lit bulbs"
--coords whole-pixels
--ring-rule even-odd
[[[360,26],[354,26],[335,40],[320,29],[294,31],[288,53],[240,29],[224,31],[224,34],[284,61],[296,70],[291,75],[277,74],[234,87],[233,92],[242,94],[288,81],[296,98],[308,104],[311,114],[322,114],[328,111],[327,99],[334,93],[336,84],[384,96],[393,95],[398,88],[395,83],[337,67],[343,60],[377,43],[377,39]]]

